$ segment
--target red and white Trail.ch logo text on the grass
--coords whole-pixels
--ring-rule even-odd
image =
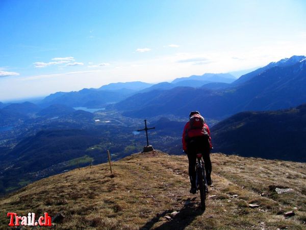
[[[10,217],[9,226],[52,226],[52,220],[48,213],[44,213],[43,216],[38,218],[38,221],[35,221],[35,216],[35,213],[28,213],[28,216],[18,216],[17,213],[7,214],[7,217]]]

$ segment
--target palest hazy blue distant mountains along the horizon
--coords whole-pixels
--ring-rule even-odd
[[[162,82],[157,84],[140,81],[118,82],[103,85],[97,89],[84,88],[80,91],[57,92],[44,98],[40,106],[52,104],[64,104],[70,107],[95,107],[102,108],[110,103],[116,103],[136,93],[146,92],[153,89],[171,89],[178,86],[201,87],[212,82],[230,83],[236,78],[231,74],[204,74],[202,76],[190,76],[176,78],[171,83]]]

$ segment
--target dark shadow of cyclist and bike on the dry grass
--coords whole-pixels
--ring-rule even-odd
[[[188,226],[197,216],[202,215],[205,210],[201,210],[196,206],[197,202],[192,202],[195,200],[195,197],[190,199],[188,198],[185,202],[185,205],[181,210],[177,210],[179,213],[175,215],[171,220],[163,223],[162,225],[155,227],[154,229],[175,229],[175,230],[183,230],[186,226]],[[165,216],[170,216],[170,214],[174,210],[166,210],[163,213],[159,213],[156,217],[150,219],[145,223],[140,229],[151,229],[152,226],[159,222],[161,218]]]

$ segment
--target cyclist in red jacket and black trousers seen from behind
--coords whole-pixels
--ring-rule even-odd
[[[196,193],[195,181],[195,165],[196,153],[202,153],[205,164],[207,184],[212,185],[211,171],[212,163],[210,159],[210,150],[212,149],[212,142],[210,130],[205,120],[198,111],[192,111],[189,114],[189,122],[186,123],[183,131],[183,150],[187,153],[189,162],[189,178],[191,183],[190,193]],[[197,126],[195,123],[198,122]]]

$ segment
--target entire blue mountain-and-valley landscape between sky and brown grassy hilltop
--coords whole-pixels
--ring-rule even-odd
[[[203,76],[217,78],[219,74]],[[39,104],[1,103],[0,128],[9,126],[9,131],[0,130],[0,173],[6,175],[2,179],[7,187],[5,192],[25,184],[12,180],[23,172],[29,182],[75,168],[75,159],[84,155],[96,163],[106,160],[101,152],[107,149],[114,159],[140,151],[145,136],[133,131],[141,128],[142,119],[146,118],[151,122],[150,127],[156,126],[149,132],[150,143],[163,151],[182,154],[181,132],[191,110],[199,110],[212,124],[227,118],[212,127],[216,151],[305,161],[305,105],[301,105],[306,102],[304,56],[270,63],[242,76],[243,81],[198,80],[203,76],[180,78],[174,83],[126,82],[99,89],[58,92]],[[198,86],[187,87],[188,84]],[[106,110],[90,113],[73,109],[80,105],[99,105]],[[263,129],[258,130],[261,126]],[[78,142],[75,152],[73,140]],[[49,160],[45,154],[56,159]],[[28,162],[12,166],[10,157],[28,159]],[[39,164],[39,160],[53,165],[47,167]],[[88,158],[85,162],[88,163]],[[13,169],[6,171],[10,167]]]

